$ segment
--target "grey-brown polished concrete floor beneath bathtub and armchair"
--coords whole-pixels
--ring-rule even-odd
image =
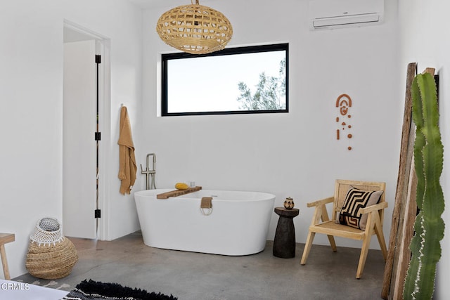
[[[380,299],[384,260],[369,250],[360,280],[355,279],[359,249],[313,245],[305,266],[304,244],[294,259],[273,256],[272,244],[250,256],[220,256],[148,247],[140,232],[111,242],[70,238],[79,261],[66,278],[41,280],[30,274],[19,280],[70,290],[84,279],[117,282],[179,300]],[[38,283],[39,282],[39,283]]]

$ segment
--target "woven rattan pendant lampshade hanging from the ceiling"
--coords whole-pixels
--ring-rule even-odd
[[[156,25],[162,41],[193,54],[225,48],[233,36],[233,27],[223,13],[195,4],[177,6],[163,13]]]

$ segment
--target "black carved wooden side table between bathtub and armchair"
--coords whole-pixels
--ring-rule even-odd
[[[274,256],[282,259],[295,257],[295,228],[293,219],[298,216],[298,209],[275,207],[275,213],[280,216],[274,238]]]

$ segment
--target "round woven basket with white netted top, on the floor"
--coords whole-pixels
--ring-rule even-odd
[[[30,236],[25,261],[28,272],[37,278],[63,278],[72,272],[77,261],[77,249],[63,236],[58,221],[52,218],[39,220]]]

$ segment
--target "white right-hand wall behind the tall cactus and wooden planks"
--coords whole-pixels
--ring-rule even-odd
[[[447,1],[399,1],[399,22],[401,37],[401,79],[406,80],[406,65],[411,62],[418,63],[418,72],[425,67],[435,67],[439,74],[439,127],[441,129],[442,143],[444,143],[444,171],[441,176],[441,185],[444,190],[444,199],[450,199],[450,161],[448,159],[450,147],[450,39],[448,28],[450,20],[446,15],[450,11]],[[446,223],[444,239],[441,241],[442,257],[437,266],[437,282],[434,299],[449,299],[450,276],[450,214],[449,205],[442,215]]]

